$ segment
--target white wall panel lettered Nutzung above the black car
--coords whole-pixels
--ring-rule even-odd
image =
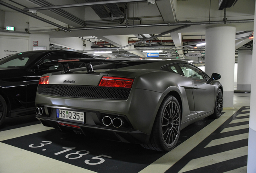
[[[19,52],[28,51],[28,39],[0,38],[0,59]]]

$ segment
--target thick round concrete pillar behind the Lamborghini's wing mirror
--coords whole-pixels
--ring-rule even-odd
[[[229,25],[210,26],[205,32],[205,72],[221,74],[225,108],[233,108],[235,27]]]

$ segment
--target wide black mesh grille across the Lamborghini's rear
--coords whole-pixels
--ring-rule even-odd
[[[88,99],[128,99],[130,88],[81,85],[40,84],[37,92],[43,95]]]

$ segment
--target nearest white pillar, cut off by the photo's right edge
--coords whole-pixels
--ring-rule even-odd
[[[256,10],[256,5],[255,5],[255,10]],[[256,20],[255,15],[254,15],[254,20]],[[254,30],[256,30],[256,22],[254,22]],[[256,73],[255,42],[256,42],[256,38],[253,39],[252,74]],[[255,161],[256,161],[256,80],[255,80],[255,75],[252,75],[247,173],[256,173]]]

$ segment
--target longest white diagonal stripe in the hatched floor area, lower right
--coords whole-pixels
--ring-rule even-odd
[[[200,167],[206,167],[206,166],[220,163],[223,161],[227,161],[230,159],[235,159],[237,157],[242,157],[242,156],[247,155],[247,152],[248,152],[248,146],[241,147],[238,149],[233,149],[230,151],[225,151],[222,153],[217,153],[214,155],[209,155],[209,156],[193,159],[190,162],[188,162],[188,164],[185,167],[183,167],[178,173],[191,171],[194,169],[198,169]]]

